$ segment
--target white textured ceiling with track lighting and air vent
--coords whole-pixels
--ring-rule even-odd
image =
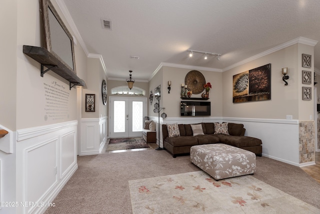
[[[224,69],[298,37],[320,41],[318,0],[60,0],[108,78],[148,80],[160,63]],[[112,30],[100,19],[112,21]],[[320,69],[320,44],[314,66]],[[203,59],[187,50],[221,54]],[[130,59],[139,56],[139,60]]]

